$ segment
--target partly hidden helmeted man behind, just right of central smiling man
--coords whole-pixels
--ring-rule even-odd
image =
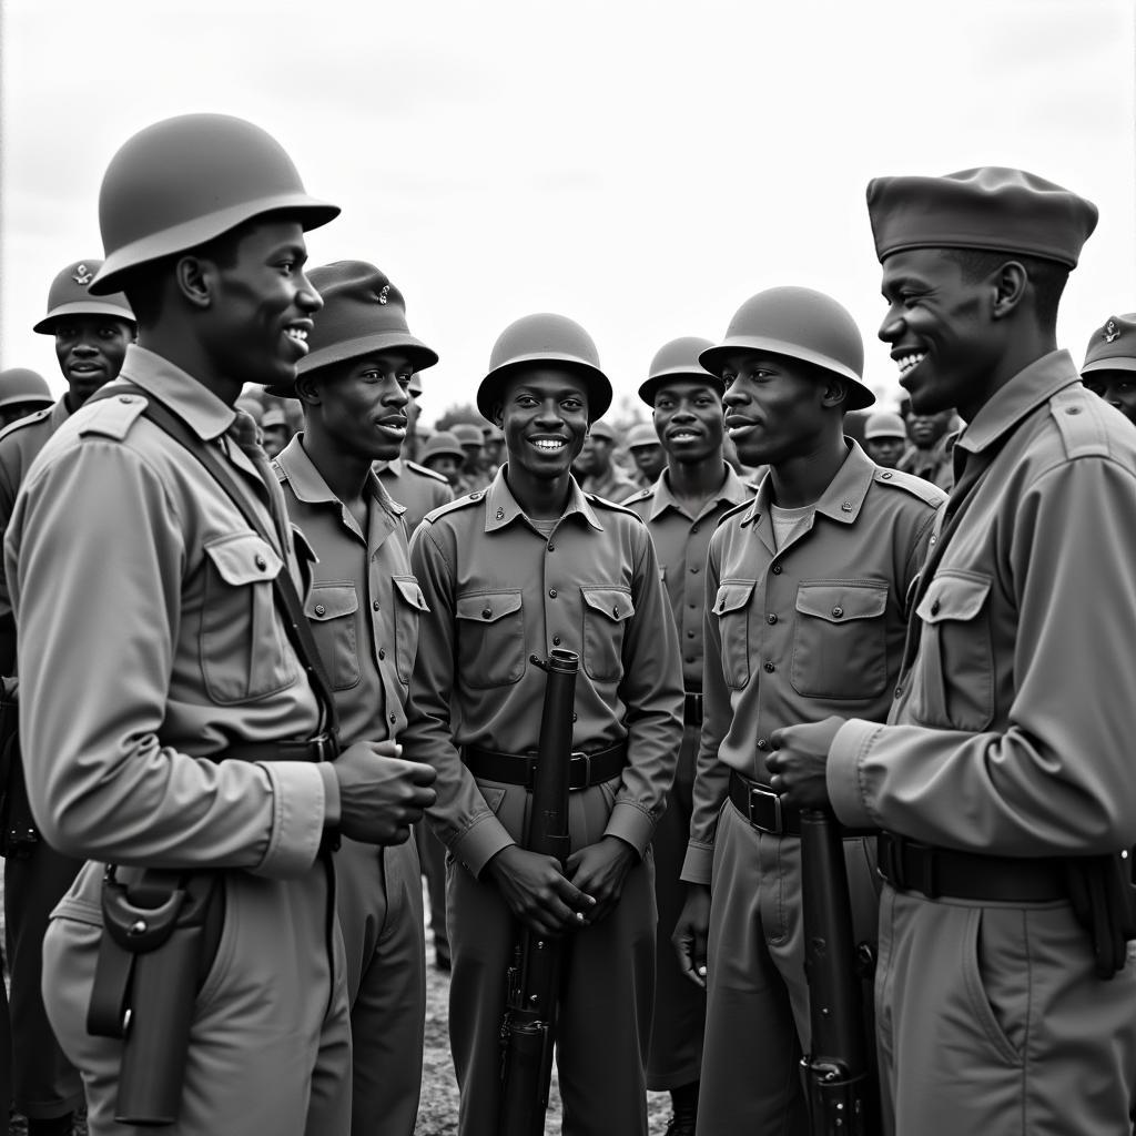
[[[655,826],[654,894],[659,982],[654,997],[648,1088],[668,1091],[673,1116],[667,1136],[693,1136],[702,1064],[705,991],[679,967],[670,936],[683,908],[679,879],[690,836],[694,759],[702,730],[703,570],[718,521],[749,501],[755,486],[743,482],[722,457],[722,382],[699,364],[713,344],[688,335],[665,343],[651,361],[640,398],[651,408],[650,431],[666,454],[666,468],[625,502],[646,524],[659,556],[683,657],[685,732],[667,811]],[[638,429],[638,427],[636,427]]]

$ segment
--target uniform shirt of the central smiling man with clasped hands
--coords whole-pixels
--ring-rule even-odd
[[[410,542],[429,613],[410,687],[408,755],[437,770],[435,829],[478,875],[513,840],[459,747],[535,751],[545,676],[529,655],[575,651],[573,747],[596,752],[626,740],[605,834],[642,855],[683,735],[678,649],[651,538],[637,517],[575,481],[565,515],[544,536],[509,491],[507,471],[484,493],[432,513]]]

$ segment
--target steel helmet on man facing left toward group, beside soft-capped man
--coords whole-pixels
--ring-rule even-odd
[[[738,350],[768,351],[801,359],[838,375],[849,384],[845,410],[876,401],[863,385],[863,339],[845,308],[808,287],[771,287],[750,296],[726,328],[726,339],[703,351],[699,362],[720,375]]]

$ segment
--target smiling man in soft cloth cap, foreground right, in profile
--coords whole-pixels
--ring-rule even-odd
[[[1097,210],[984,167],[876,178],[868,212],[900,384],[967,427],[887,725],[834,707],[769,772],[882,829],[895,1129],[1128,1133],[1136,433],[1056,346]]]

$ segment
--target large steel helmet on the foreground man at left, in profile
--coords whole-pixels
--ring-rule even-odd
[[[228,115],[154,123],[123,145],[103,175],[99,227],[107,259],[91,291],[117,292],[131,268],[281,211],[310,229],[340,210],[308,197],[284,148],[252,123]]]

